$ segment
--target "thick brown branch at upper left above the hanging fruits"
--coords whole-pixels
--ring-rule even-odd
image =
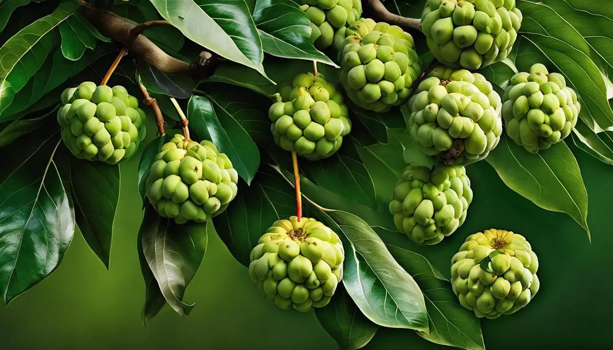
[[[198,79],[207,78],[215,72],[217,56],[210,52],[202,51],[196,62],[189,64],[180,59],[173,58],[151,42],[151,40],[147,39],[145,35],[140,34],[142,30],[149,26],[161,23],[143,24],[144,26],[140,26],[140,29],[136,29],[139,28],[139,24],[128,20],[128,18],[120,17],[115,15],[115,13],[96,9],[85,2],[80,2],[83,4],[80,10],[81,15],[93,24],[102,35],[121,43],[132,56],[153,65],[161,70],[161,72],[188,75]],[[133,30],[134,34],[132,34]]]

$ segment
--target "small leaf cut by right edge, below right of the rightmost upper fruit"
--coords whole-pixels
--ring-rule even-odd
[[[601,162],[613,165],[613,132],[593,132],[584,121],[577,120],[573,129],[573,141],[577,147],[588,154],[601,160]],[[0,138],[2,133],[0,133]]]

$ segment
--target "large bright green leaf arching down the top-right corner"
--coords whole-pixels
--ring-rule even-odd
[[[590,125],[600,128],[613,127],[613,110],[607,101],[607,87],[598,66],[590,58],[590,47],[568,21],[542,2],[517,1],[524,14],[520,32],[527,42],[533,43],[531,51],[538,51],[552,62],[557,72],[567,78],[567,83],[581,97],[581,117]],[[527,72],[535,61],[530,56],[518,55],[517,68]]]

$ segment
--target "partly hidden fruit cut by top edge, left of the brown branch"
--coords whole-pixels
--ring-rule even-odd
[[[311,20],[311,43],[319,50],[345,38],[346,26],[362,15],[362,0],[299,0]]]

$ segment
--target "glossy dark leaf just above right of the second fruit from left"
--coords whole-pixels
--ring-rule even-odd
[[[250,184],[260,165],[260,152],[232,116],[243,107],[240,102],[221,104],[215,101],[215,95],[208,97],[192,95],[189,99],[189,125],[199,140],[213,141],[230,158],[238,175]]]

